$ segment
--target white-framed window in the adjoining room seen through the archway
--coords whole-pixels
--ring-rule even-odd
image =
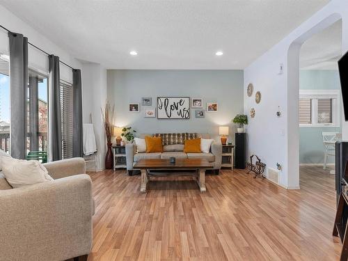
[[[340,127],[339,90],[300,90],[300,127]]]

